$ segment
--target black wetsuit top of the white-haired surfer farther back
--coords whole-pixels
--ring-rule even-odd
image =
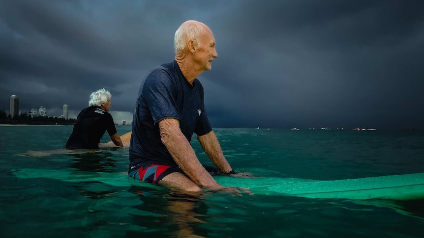
[[[98,106],[84,108],[78,114],[66,148],[98,149],[106,130],[110,136],[117,133],[112,115]]]

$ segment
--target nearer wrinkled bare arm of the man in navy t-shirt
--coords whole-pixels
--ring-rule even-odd
[[[193,148],[180,130],[178,119],[166,118],[161,120],[159,129],[162,143],[178,166],[194,183],[213,190],[222,188],[197,159]]]

